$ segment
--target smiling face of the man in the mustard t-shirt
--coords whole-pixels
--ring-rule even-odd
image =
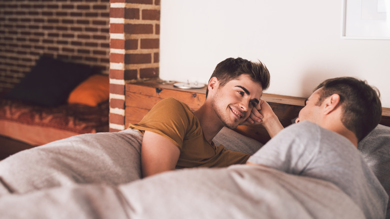
[[[249,116],[252,108],[259,102],[261,94],[261,84],[241,74],[224,86],[217,87],[211,105],[225,126],[236,128]]]

